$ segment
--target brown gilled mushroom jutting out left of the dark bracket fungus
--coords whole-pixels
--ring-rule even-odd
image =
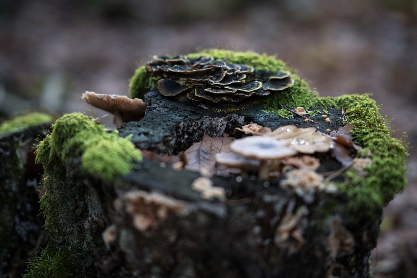
[[[126,95],[103,95],[94,92],[85,92],[81,98],[88,104],[112,113],[117,128],[123,123],[141,120],[145,114],[146,105],[139,98],[131,99]]]

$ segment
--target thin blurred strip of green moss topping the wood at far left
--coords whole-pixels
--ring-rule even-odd
[[[52,116],[45,113],[27,113],[15,117],[11,120],[6,120],[0,125],[0,135],[24,130],[31,126],[40,125],[42,123],[50,123],[53,121]]]

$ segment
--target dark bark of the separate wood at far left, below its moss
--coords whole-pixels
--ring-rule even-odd
[[[48,235],[39,215],[42,165],[33,144],[50,124],[0,136],[0,277],[21,277],[30,258],[45,247]]]

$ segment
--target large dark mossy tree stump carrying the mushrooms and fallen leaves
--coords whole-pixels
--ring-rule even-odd
[[[291,70],[256,53],[191,56],[199,55]],[[321,98],[292,77],[294,86],[282,92],[219,105],[163,97],[139,68],[131,94],[144,97],[148,107],[142,121],[122,126],[120,136],[80,113],[63,116],[37,151],[46,173],[41,208],[51,238],[25,277],[369,277],[382,207],[406,184],[406,146],[391,137],[367,95]],[[352,123],[363,147],[357,156],[372,160],[367,173],[350,168],[335,180],[336,192],[317,192],[308,202],[281,189],[281,176],[267,183],[218,176],[212,181],[227,199],[207,201],[191,189],[199,173],[152,160],[132,163],[140,160],[132,143],[176,155],[200,141],[204,130],[240,138],[234,128],[251,121],[272,129],[313,126],[284,106],[306,108],[320,130],[329,127],[322,113],[329,115],[330,129],[346,119]],[[340,167],[332,158],[322,162],[322,172]],[[286,221],[288,234],[279,228]]]

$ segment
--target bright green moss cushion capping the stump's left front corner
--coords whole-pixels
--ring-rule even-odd
[[[129,136],[121,138],[117,130],[108,133],[93,117],[82,113],[66,114],[56,120],[52,133],[39,143],[35,153],[37,163],[80,157],[83,171],[110,181],[127,174],[133,162],[142,159]]]

